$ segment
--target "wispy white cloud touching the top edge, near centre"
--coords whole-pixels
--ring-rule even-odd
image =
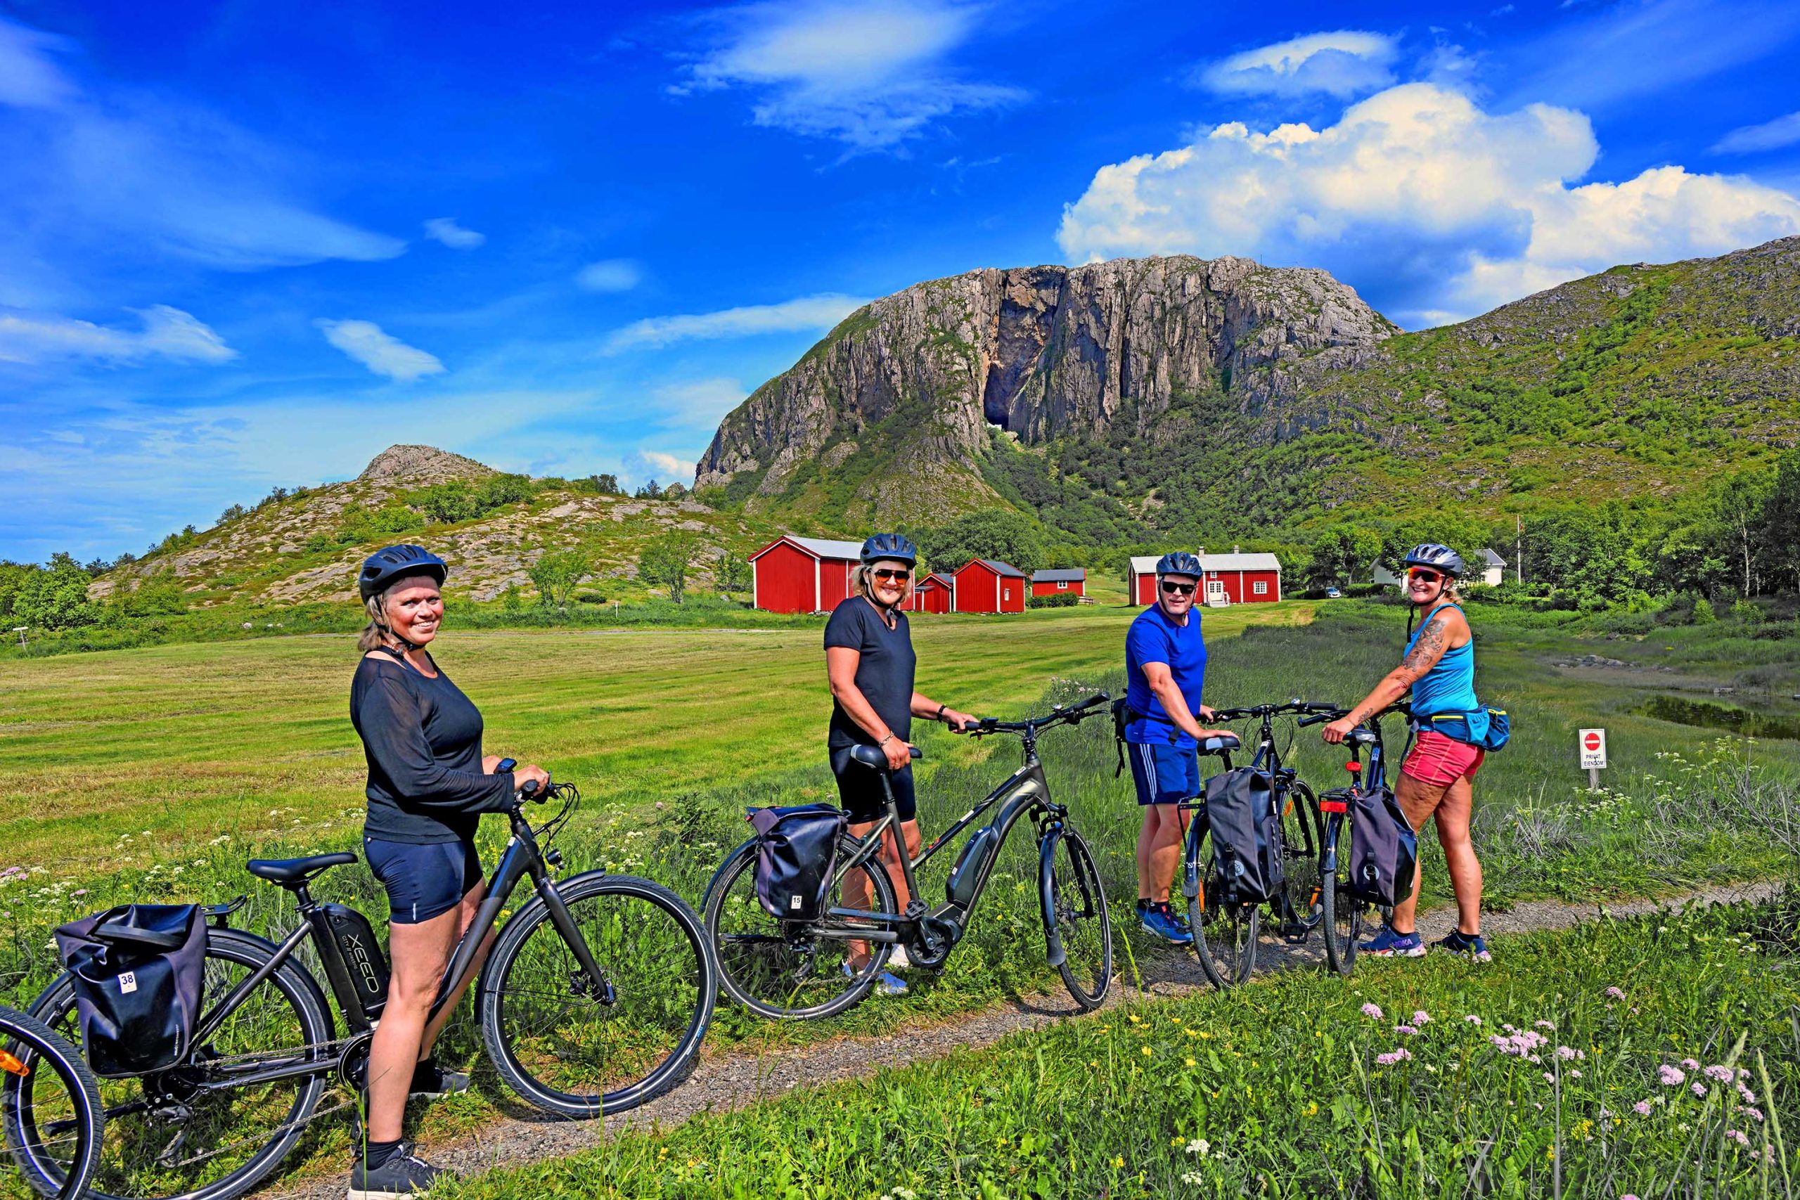
[[[947,63],[983,14],[947,0],[749,4],[715,14],[722,45],[670,90],[754,88],[760,126],[889,149],[940,117],[1024,99],[1019,88],[958,79]]]

